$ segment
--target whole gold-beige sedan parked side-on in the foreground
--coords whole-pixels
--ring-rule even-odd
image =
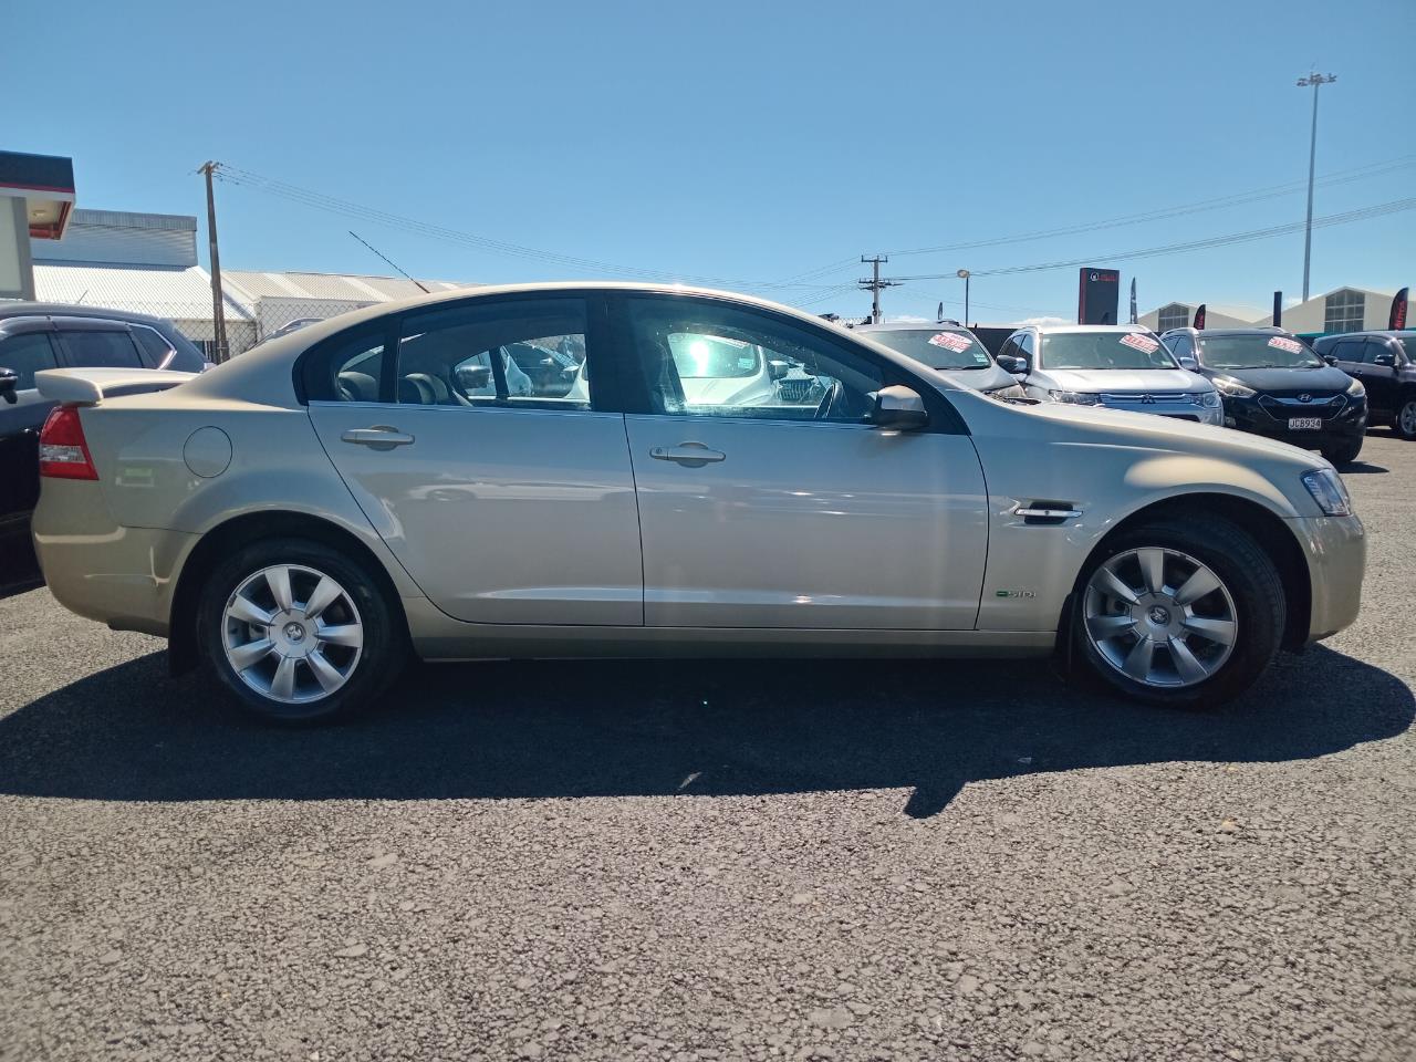
[[[583,350],[586,392],[513,394],[510,344]],[[685,378],[758,379],[759,353],[813,382]],[[34,517],[50,588],[280,719],[370,702],[409,653],[1061,647],[1140,700],[1214,704],[1358,610],[1362,524],[1321,457],[997,402],[739,296],[452,292],[161,394],[105,385],[41,374],[65,404]]]

